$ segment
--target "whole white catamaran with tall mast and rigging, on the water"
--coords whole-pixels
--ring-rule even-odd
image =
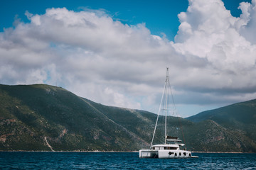
[[[182,143],[181,140],[178,139],[178,137],[171,137],[167,135],[167,115],[170,111],[169,94],[171,94],[172,96],[171,85],[169,82],[169,68],[166,68],[166,81],[164,85],[164,91],[161,97],[159,112],[156,118],[156,125],[154,127],[154,133],[151,140],[150,149],[140,149],[140,158],[196,158],[196,156],[192,156],[190,151],[187,151],[186,149],[181,149],[181,147],[184,147],[185,145]],[[172,99],[174,99],[173,96]],[[175,103],[174,110],[176,111]],[[159,115],[161,111],[165,112],[164,143],[160,145],[153,145],[154,137],[156,134],[156,126],[157,122],[159,121]]]

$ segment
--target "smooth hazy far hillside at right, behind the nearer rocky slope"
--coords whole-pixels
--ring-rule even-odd
[[[186,119],[193,122],[213,120],[223,128],[238,131],[256,141],[256,100],[204,111]]]

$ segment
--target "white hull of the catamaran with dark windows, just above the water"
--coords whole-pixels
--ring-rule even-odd
[[[190,151],[185,150],[153,150],[153,149],[141,149],[139,150],[140,158],[192,158]]]

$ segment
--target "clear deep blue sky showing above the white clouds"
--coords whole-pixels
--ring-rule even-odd
[[[250,0],[247,0],[250,2]],[[231,11],[233,16],[240,16],[238,9],[242,0],[224,0],[225,8]],[[136,0],[74,0],[74,1],[33,1],[33,0],[2,0],[0,11],[0,28],[9,28],[13,26],[14,18],[18,15],[23,22],[29,22],[25,11],[30,13],[43,14],[46,8],[68,8],[69,10],[81,11],[83,8],[104,9],[113,18],[136,25],[137,23],[146,23],[152,34],[166,34],[169,40],[174,40],[178,31],[178,13],[186,11],[188,8],[187,0],[179,1],[136,1]]]

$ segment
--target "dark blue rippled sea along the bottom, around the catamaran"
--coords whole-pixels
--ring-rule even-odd
[[[193,153],[140,159],[137,152],[0,152],[0,169],[256,169],[256,154]]]

